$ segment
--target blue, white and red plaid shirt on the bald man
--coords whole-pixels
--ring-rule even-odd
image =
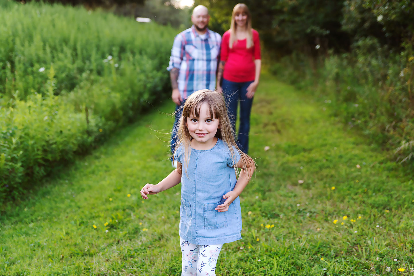
[[[202,39],[195,27],[182,31],[174,38],[167,70],[178,68],[178,90],[186,99],[200,89],[216,88],[216,69],[221,36],[207,29]]]

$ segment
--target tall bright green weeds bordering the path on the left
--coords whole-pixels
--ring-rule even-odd
[[[0,14],[1,202],[165,98],[176,31],[61,5]]]

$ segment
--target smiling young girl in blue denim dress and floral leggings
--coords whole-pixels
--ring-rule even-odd
[[[223,243],[241,239],[238,196],[255,171],[255,162],[238,149],[233,135],[221,93],[193,93],[178,122],[177,169],[141,190],[142,198],[148,199],[181,182],[181,275],[216,275]]]

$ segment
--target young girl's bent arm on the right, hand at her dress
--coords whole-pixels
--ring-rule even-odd
[[[246,168],[243,168],[243,158],[246,159]],[[223,198],[226,200],[223,204],[217,205],[216,210],[218,212],[226,212],[229,209],[231,202],[233,202],[240,194],[243,192],[244,188],[249,183],[250,178],[252,178],[253,172],[256,169],[255,162],[248,155],[243,153],[243,156],[237,162],[236,166],[241,169],[240,174],[237,178],[236,186],[229,193],[223,195]]]

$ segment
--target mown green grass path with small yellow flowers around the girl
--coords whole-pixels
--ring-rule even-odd
[[[413,174],[324,108],[263,74],[243,239],[224,245],[217,275],[410,274]],[[171,171],[174,106],[159,109],[2,207],[0,275],[180,275],[180,185],[139,195]]]

